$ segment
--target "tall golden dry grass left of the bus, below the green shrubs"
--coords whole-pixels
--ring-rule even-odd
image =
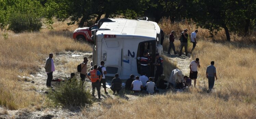
[[[49,53],[91,51],[90,45],[72,38],[77,26],[66,23],[55,22],[54,29],[45,28],[40,32],[14,34],[7,31],[8,39],[0,36],[0,106],[19,109],[42,103],[43,98],[34,88],[24,86],[17,76],[35,74]]]

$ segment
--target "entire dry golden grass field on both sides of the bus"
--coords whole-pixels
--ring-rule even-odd
[[[162,21],[160,26],[166,32],[164,50],[167,50],[167,36],[171,30],[178,34],[187,28],[190,35],[196,29],[189,23],[170,24],[168,20]],[[35,74],[50,52],[91,51],[88,44],[72,39],[76,27],[56,22],[54,30],[42,29],[40,32],[22,34],[8,31],[9,38],[6,40],[0,36],[2,107],[16,110],[46,106],[43,105],[46,97],[36,93],[33,87],[25,87],[24,80],[17,76]],[[226,42],[224,31],[214,38],[208,38],[208,30],[197,29],[199,41],[191,54],[191,61],[200,58],[197,88],[191,87],[187,92],[168,91],[141,96],[135,100],[110,97],[82,109],[80,118],[256,118],[256,48],[255,44],[252,45],[256,41],[255,36],[242,38],[231,34],[232,41]],[[175,46],[178,51],[178,40]],[[189,45],[188,51],[191,47]],[[176,67],[176,62],[168,61],[168,57],[164,56],[164,60],[165,69]],[[218,80],[214,91],[207,93],[205,71],[210,61],[215,61]],[[169,75],[169,72],[165,71],[164,74]]]

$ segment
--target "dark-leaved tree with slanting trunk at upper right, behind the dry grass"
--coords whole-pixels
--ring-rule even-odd
[[[196,24],[210,31],[225,29],[227,40],[230,41],[228,25],[233,21],[234,11],[239,4],[233,0],[194,0],[190,2],[192,18]]]

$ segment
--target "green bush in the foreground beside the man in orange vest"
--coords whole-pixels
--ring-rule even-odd
[[[77,80],[61,82],[47,95],[55,105],[63,107],[83,107],[92,103],[92,96],[85,86],[79,84]]]

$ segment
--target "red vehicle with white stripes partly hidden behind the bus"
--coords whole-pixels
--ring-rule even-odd
[[[91,40],[91,30],[98,29],[98,25],[94,24],[91,27],[77,28],[73,33],[73,38],[77,41],[93,41]]]

